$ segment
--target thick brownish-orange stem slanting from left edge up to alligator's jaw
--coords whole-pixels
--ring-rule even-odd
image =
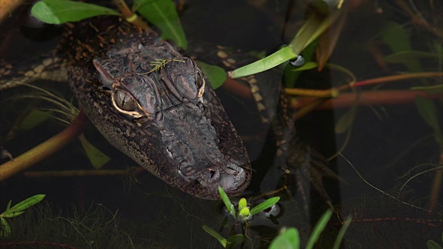
[[[33,147],[33,149],[17,156],[17,158],[0,165],[0,182],[55,154],[55,152],[62,149],[71,142],[71,140],[77,138],[77,136],[82,133],[86,124],[87,116],[83,111],[80,111],[77,118],[75,118],[69,127],[66,127],[66,129],[45,142],[42,142],[40,145]]]

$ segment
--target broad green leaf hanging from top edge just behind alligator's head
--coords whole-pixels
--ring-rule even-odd
[[[176,46],[180,46],[185,50],[188,48],[179,15],[171,0],[136,0],[134,5],[139,7],[137,11],[147,21],[161,30],[161,38],[171,39]]]

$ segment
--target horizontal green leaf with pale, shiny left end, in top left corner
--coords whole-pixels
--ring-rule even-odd
[[[120,15],[116,10],[68,0],[42,0],[34,4],[31,14],[47,24],[64,24],[99,15]]]

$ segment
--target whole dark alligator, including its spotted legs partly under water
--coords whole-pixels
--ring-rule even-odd
[[[96,17],[67,26],[58,49],[65,59],[46,64],[67,65],[68,81],[81,109],[111,145],[165,183],[201,199],[219,199],[219,186],[228,196],[246,190],[252,175],[248,154],[195,60],[154,33],[117,17]],[[205,55],[199,49],[195,52]],[[225,67],[244,63],[244,59],[234,59],[244,57],[238,53],[220,50],[217,55]],[[40,71],[20,81],[42,75]],[[289,153],[293,149],[302,152],[300,148],[305,147],[294,139],[294,111],[280,84],[260,95],[257,81],[279,77],[268,71],[244,79],[251,86],[257,109],[263,111],[262,120],[275,131],[279,167],[296,169],[298,176],[310,179],[329,200],[322,178],[336,174],[321,159],[314,160],[306,173],[299,166],[305,158]],[[0,85],[14,81],[6,79]],[[268,109],[262,103],[266,93],[273,99],[273,107]],[[277,111],[266,113],[269,109]]]

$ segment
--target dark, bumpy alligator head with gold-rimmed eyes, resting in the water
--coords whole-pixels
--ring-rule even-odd
[[[125,34],[80,59],[69,81],[80,106],[114,147],[183,192],[219,199],[251,181],[246,149],[197,64],[167,42]]]

